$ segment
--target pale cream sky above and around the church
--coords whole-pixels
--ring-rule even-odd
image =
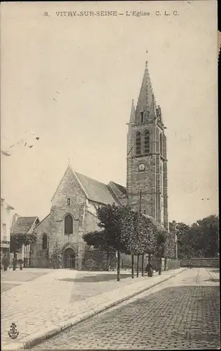
[[[166,125],[169,220],[190,224],[218,214],[216,6],[1,4],[1,150],[10,150],[1,157],[1,197],[16,213],[47,216],[69,162],[103,183],[126,185],[127,122],[148,59]]]

